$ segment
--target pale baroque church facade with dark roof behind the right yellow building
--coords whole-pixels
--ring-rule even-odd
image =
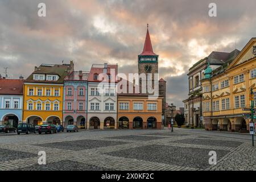
[[[232,52],[213,51],[209,56],[194,64],[188,73],[188,98],[184,100],[185,125],[191,127],[204,126],[202,96],[203,88],[201,80],[204,78],[204,70],[209,64],[213,69],[221,67],[223,64],[232,62],[240,53],[237,49]]]

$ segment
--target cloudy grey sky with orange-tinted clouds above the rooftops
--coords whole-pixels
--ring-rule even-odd
[[[210,17],[209,3],[217,6]],[[38,4],[46,4],[46,17]],[[212,51],[242,49],[256,37],[255,0],[0,0],[0,73],[25,78],[42,63],[73,60],[138,71],[147,23],[167,102],[184,107],[188,69]]]

